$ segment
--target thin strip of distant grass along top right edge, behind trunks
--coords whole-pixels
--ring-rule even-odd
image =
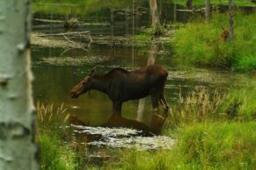
[[[172,2],[186,5],[186,0],[172,0]],[[210,3],[227,5],[229,4],[229,1],[228,0],[211,0]],[[236,0],[236,1],[233,1],[233,3],[238,6],[255,6],[255,4],[251,2],[251,0]],[[193,0],[193,5],[204,5],[204,4],[205,4],[205,0]]]

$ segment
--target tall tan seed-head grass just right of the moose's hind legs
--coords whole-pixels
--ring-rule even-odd
[[[209,93],[207,89],[202,88],[183,97],[180,90],[179,100],[172,106],[167,121],[172,127],[177,127],[216,119],[222,103],[223,95],[217,91]]]

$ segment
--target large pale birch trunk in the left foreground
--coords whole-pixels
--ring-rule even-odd
[[[29,0],[0,1],[0,169],[36,170]]]

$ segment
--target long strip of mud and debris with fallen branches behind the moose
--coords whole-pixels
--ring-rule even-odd
[[[156,43],[167,43],[174,31],[166,31],[165,35],[155,38]],[[137,39],[132,35],[125,36],[91,36],[90,32],[65,32],[56,34],[46,34],[42,32],[32,32],[31,44],[33,46],[51,46],[62,48],[80,48],[88,50],[91,45],[107,46],[145,46],[150,45],[153,39],[147,36],[146,39]]]

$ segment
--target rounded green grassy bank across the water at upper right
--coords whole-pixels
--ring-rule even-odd
[[[210,67],[225,67],[248,72],[256,69],[256,15],[236,14],[235,40],[223,41],[223,28],[228,28],[228,14],[213,14],[205,23],[194,20],[180,28],[172,39],[175,53],[184,61]]]

